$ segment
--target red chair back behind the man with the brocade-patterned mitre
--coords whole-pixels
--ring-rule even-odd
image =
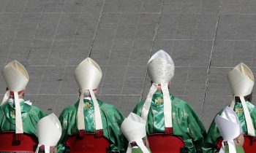
[[[152,153],[186,152],[185,143],[178,136],[152,134],[148,136],[148,143]]]

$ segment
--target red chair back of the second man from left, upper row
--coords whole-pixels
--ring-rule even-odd
[[[85,136],[69,136],[66,147],[70,149],[70,153],[104,153],[108,151],[110,143],[107,138],[96,138],[94,133],[86,133]]]

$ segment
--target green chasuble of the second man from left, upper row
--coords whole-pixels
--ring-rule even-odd
[[[110,141],[110,150],[112,152],[125,152],[127,149],[127,139],[121,133],[121,123],[124,120],[124,116],[115,106],[108,103],[102,103],[99,101],[99,109],[102,117],[102,126],[104,130],[104,136]],[[62,126],[62,135],[59,140],[58,152],[64,152],[65,144],[69,136],[78,134],[78,122],[77,122],[77,111],[78,111],[79,100],[75,105],[67,106],[60,116],[59,121]],[[83,114],[84,122],[86,127],[86,133],[94,133],[94,104],[92,100],[83,100]]]

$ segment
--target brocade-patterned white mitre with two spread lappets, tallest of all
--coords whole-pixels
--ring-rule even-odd
[[[151,106],[151,100],[158,87],[161,87],[163,98],[164,98],[164,115],[165,115],[165,133],[173,133],[173,122],[172,122],[172,107],[170,101],[170,93],[168,90],[168,82],[173,78],[174,75],[174,63],[173,59],[167,52],[159,50],[148,60],[148,76],[152,80],[151,88],[148,92],[146,102],[141,111],[141,117],[147,120],[148,111]]]

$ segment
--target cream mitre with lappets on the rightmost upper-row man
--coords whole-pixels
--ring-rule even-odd
[[[255,84],[255,79],[252,74],[251,69],[246,66],[244,63],[239,63],[232,71],[229,72],[227,80],[230,84],[230,87],[233,91],[233,101],[230,105],[231,109],[234,109],[235,106],[235,96],[240,98],[244,109],[244,116],[246,120],[246,127],[249,136],[255,136],[255,129],[252,124],[252,118],[249,114],[249,109],[244,100],[244,96],[252,93],[252,88]]]

